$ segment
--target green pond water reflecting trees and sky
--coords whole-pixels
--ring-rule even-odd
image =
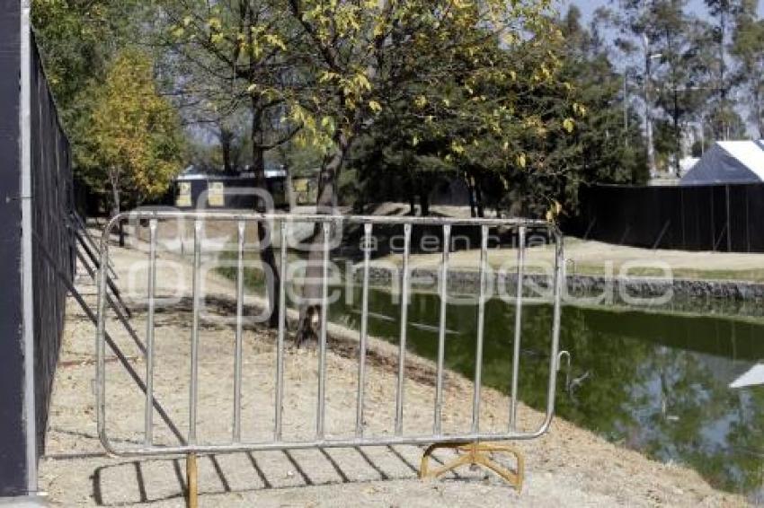
[[[360,292],[332,305],[331,319],[360,327]],[[400,306],[389,293],[369,292],[369,334],[397,340]],[[546,403],[551,308],[523,309],[521,399]],[[434,359],[440,300],[415,293],[409,307],[409,347]],[[449,306],[446,363],[474,375],[475,308]],[[507,391],[514,309],[486,305],[484,384]],[[558,380],[556,411],[612,442],[653,458],[687,464],[714,486],[753,494],[761,484],[764,389],[727,385],[764,358],[764,324],[704,316],[568,307],[560,346],[572,369]],[[527,366],[528,368],[526,368]],[[567,390],[566,390],[567,389]]]

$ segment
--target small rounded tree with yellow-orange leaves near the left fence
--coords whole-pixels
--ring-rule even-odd
[[[111,188],[111,213],[122,203],[164,195],[181,170],[183,148],[172,105],[156,90],[154,67],[144,52],[126,48],[94,91],[81,169],[91,188]]]

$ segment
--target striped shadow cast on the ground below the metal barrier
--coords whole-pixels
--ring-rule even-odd
[[[252,494],[309,486],[370,484],[418,477],[422,448],[316,448],[304,451],[247,451],[198,458],[199,495]],[[431,457],[444,467],[454,455]],[[502,467],[515,467],[502,462]],[[452,471],[453,481],[469,481]],[[482,479],[482,477],[481,477]],[[93,470],[93,501],[99,506],[145,505],[187,499],[185,463],[180,459],[127,460]]]

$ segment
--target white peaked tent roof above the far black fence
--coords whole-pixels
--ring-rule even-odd
[[[680,185],[764,181],[764,141],[719,141],[681,179]]]

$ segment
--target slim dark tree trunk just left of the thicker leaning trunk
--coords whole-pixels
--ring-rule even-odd
[[[263,145],[263,132],[262,132],[262,108],[260,106],[259,99],[253,97],[252,100],[252,160],[253,170],[255,174],[255,186],[264,191],[268,191],[267,181],[265,179],[265,151],[262,148]],[[273,202],[271,197],[271,203]],[[273,209],[268,209],[266,203],[261,199],[257,199],[255,202],[255,211],[260,213],[272,213]],[[257,241],[260,248],[260,258],[262,263],[270,271],[272,278],[270,283],[266,280],[266,292],[268,293],[268,304],[271,310],[268,319],[268,326],[270,328],[279,328],[279,315],[280,311],[280,282],[281,276],[279,273],[279,267],[276,263],[276,256],[273,254],[273,236],[268,234],[268,223],[257,224]]]

